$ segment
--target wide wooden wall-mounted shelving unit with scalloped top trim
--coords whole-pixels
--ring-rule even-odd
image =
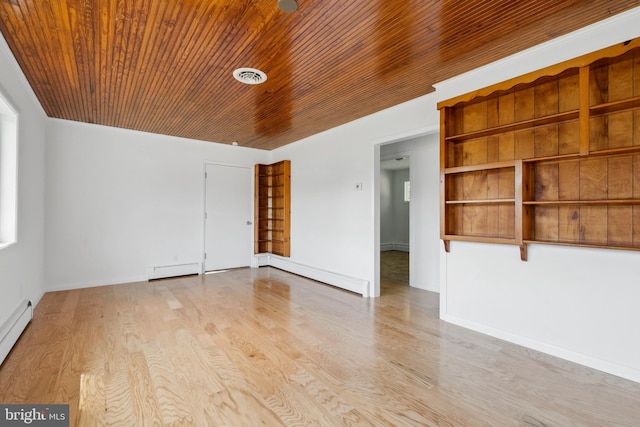
[[[438,105],[441,238],[640,250],[640,41]]]

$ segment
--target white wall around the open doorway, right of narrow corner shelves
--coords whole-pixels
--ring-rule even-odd
[[[356,279],[366,289],[343,286],[340,277],[324,280],[366,296],[379,294],[379,147],[434,132],[438,117],[435,97],[429,95],[274,150],[274,161],[291,160],[287,262],[333,272],[349,283]],[[435,144],[436,158],[437,149]],[[363,184],[363,191],[355,189],[356,183]],[[420,188],[414,187],[416,197]],[[422,244],[428,243],[419,239],[412,249]],[[425,262],[437,272],[437,257]],[[426,278],[416,283],[432,286]]]

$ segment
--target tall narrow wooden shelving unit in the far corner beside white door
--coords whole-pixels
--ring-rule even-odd
[[[290,256],[291,162],[255,166],[254,252]]]

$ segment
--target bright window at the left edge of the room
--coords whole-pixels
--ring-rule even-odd
[[[0,94],[0,248],[16,241],[18,114]]]

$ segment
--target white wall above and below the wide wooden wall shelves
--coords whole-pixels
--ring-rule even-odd
[[[640,36],[640,8],[437,85],[438,99]],[[640,381],[640,252],[451,242],[441,317]]]

